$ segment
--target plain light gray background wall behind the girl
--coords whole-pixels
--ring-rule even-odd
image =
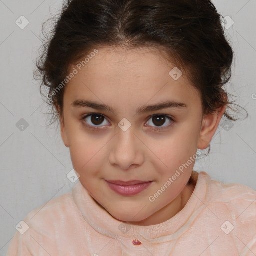
[[[238,108],[240,121],[232,125],[223,119],[210,154],[197,160],[194,170],[256,190],[256,0],[213,3],[222,16],[234,21],[226,29],[235,52],[226,88],[249,117],[243,120],[245,112]],[[56,125],[46,127],[48,106],[41,99],[40,83],[33,79],[42,23],[61,5],[62,0],[0,0],[0,255],[6,254],[15,226],[29,211],[78,182],[66,177],[72,170],[69,149]],[[15,23],[22,15],[29,21],[24,29]],[[16,125],[21,118],[28,123],[23,131]]]

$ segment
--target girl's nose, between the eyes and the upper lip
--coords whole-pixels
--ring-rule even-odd
[[[119,129],[111,140],[109,161],[123,170],[138,167],[144,160],[143,148],[145,145],[131,128],[126,131]]]

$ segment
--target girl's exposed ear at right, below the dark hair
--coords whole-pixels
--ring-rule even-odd
[[[197,144],[198,149],[206,149],[214,136],[219,122],[225,113],[226,105],[219,108],[216,112],[207,114],[203,117],[200,136]]]

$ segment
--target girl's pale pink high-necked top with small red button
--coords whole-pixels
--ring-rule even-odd
[[[29,229],[16,231],[6,256],[256,255],[256,191],[203,171],[185,207],[157,225],[118,221],[79,181],[42,206],[23,219],[17,230]]]

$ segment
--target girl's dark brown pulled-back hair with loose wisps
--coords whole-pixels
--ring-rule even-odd
[[[231,77],[233,51],[222,18],[210,0],[63,2],[60,17],[55,17],[53,29],[43,40],[34,72],[42,80],[40,93],[43,85],[49,87],[46,102],[52,106],[53,122],[63,114],[64,87],[53,92],[63,84],[70,64],[102,46],[161,50],[200,92],[204,114],[223,105],[230,108],[233,103],[223,86]],[[227,112],[224,116],[237,120]]]

